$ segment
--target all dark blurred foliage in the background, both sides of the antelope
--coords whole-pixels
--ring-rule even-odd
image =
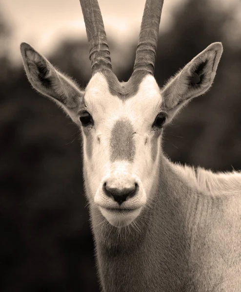
[[[211,42],[224,46],[211,91],[192,101],[165,132],[164,149],[173,161],[241,169],[241,50],[232,49],[226,35],[233,13],[209,0],[189,0],[160,36],[160,85]],[[3,19],[1,44],[10,34]],[[84,87],[87,54],[86,43],[68,40],[49,59]],[[133,62],[119,71],[120,80],[130,77]],[[22,68],[13,70],[7,52],[0,68],[0,291],[96,292],[78,128],[31,89]]]

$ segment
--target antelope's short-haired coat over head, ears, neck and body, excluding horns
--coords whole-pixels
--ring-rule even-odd
[[[137,71],[121,83],[108,69],[95,73],[83,93],[30,45],[23,43],[21,53],[33,87],[81,128],[102,291],[240,292],[241,173],[173,164],[161,148],[165,125],[211,87],[221,43],[208,46],[162,90],[152,74]],[[81,126],[83,110],[93,117],[89,126]],[[166,118],[161,128],[154,125],[160,112]],[[115,127],[125,119],[128,125]],[[111,146],[118,146],[113,139],[121,154],[111,160]],[[119,206],[103,192],[105,182],[112,190],[138,185],[121,204],[133,212],[108,213]]]

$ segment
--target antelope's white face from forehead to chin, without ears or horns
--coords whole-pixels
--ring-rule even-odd
[[[151,200],[156,181],[160,123],[165,117],[160,89],[148,75],[136,95],[121,100],[111,94],[105,77],[96,73],[86,88],[84,104],[80,121],[82,116],[86,124],[88,113],[92,121],[81,127],[89,200],[109,223],[126,226]]]

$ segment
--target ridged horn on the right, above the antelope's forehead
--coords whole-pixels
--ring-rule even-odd
[[[133,73],[154,74],[163,0],[146,0]]]

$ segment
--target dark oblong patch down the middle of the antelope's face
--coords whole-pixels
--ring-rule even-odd
[[[133,135],[134,128],[128,119],[116,121],[110,138],[111,162],[116,160],[133,162],[136,150]]]

